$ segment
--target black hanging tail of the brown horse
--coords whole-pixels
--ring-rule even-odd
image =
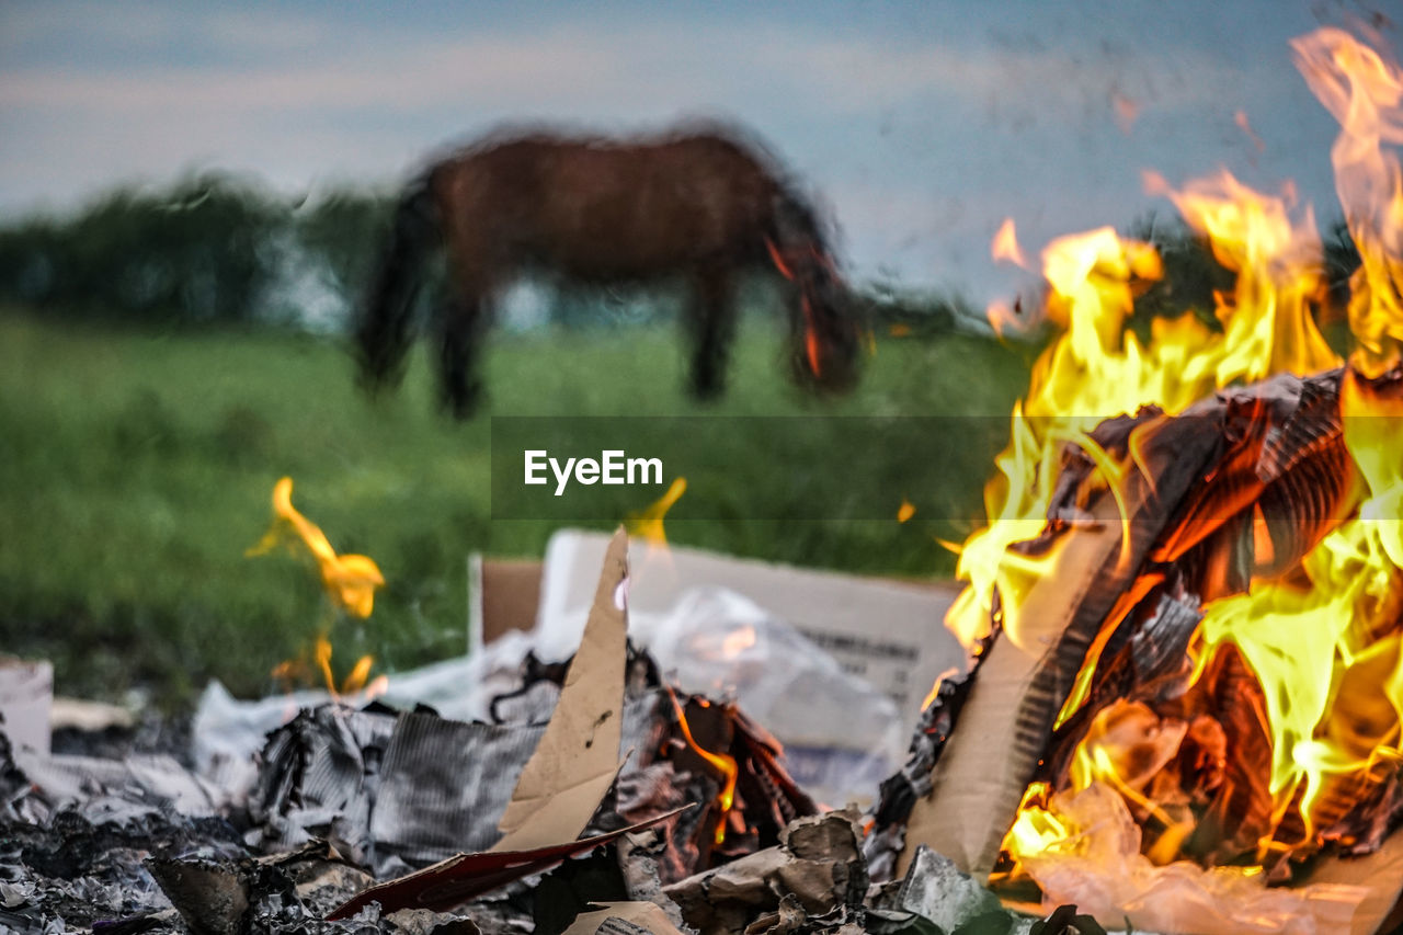
[[[355,344],[361,358],[361,379],[369,389],[398,383],[404,358],[414,340],[414,298],[424,281],[424,261],[441,239],[439,209],[434,198],[432,171],[411,183],[394,211],[390,243],[361,320]]]

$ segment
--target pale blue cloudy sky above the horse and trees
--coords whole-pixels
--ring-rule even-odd
[[[1379,10],[1383,4],[1378,6]],[[804,180],[857,281],[985,303],[989,243],[1172,213],[1226,167],[1338,215],[1337,126],[1288,41],[1343,0],[0,4],[0,223],[222,168],[397,184],[504,122],[735,119]],[[1397,49],[1397,27],[1385,35]],[[1243,121],[1237,117],[1246,117]],[[1020,278],[1021,277],[1021,278]]]

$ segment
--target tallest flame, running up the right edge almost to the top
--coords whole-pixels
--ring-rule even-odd
[[[1292,48],[1312,91],[1340,121],[1331,150],[1350,234],[1364,260],[1351,282],[1357,345],[1340,386],[1344,442],[1364,482],[1357,518],[1302,562],[1303,587],[1277,585],[1205,606],[1200,663],[1223,644],[1242,653],[1263,688],[1271,730],[1268,788],[1278,824],[1299,813],[1308,844],[1329,792],[1368,782],[1397,762],[1403,654],[1403,462],[1396,427],[1403,399],[1371,379],[1396,368],[1403,338],[1403,174],[1383,143],[1403,143],[1403,70],[1348,34],[1324,28]]]

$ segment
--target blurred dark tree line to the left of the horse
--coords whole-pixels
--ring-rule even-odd
[[[391,205],[359,187],[286,198],[222,173],[123,185],[0,229],[0,302],[163,324],[334,317],[363,291]]]

